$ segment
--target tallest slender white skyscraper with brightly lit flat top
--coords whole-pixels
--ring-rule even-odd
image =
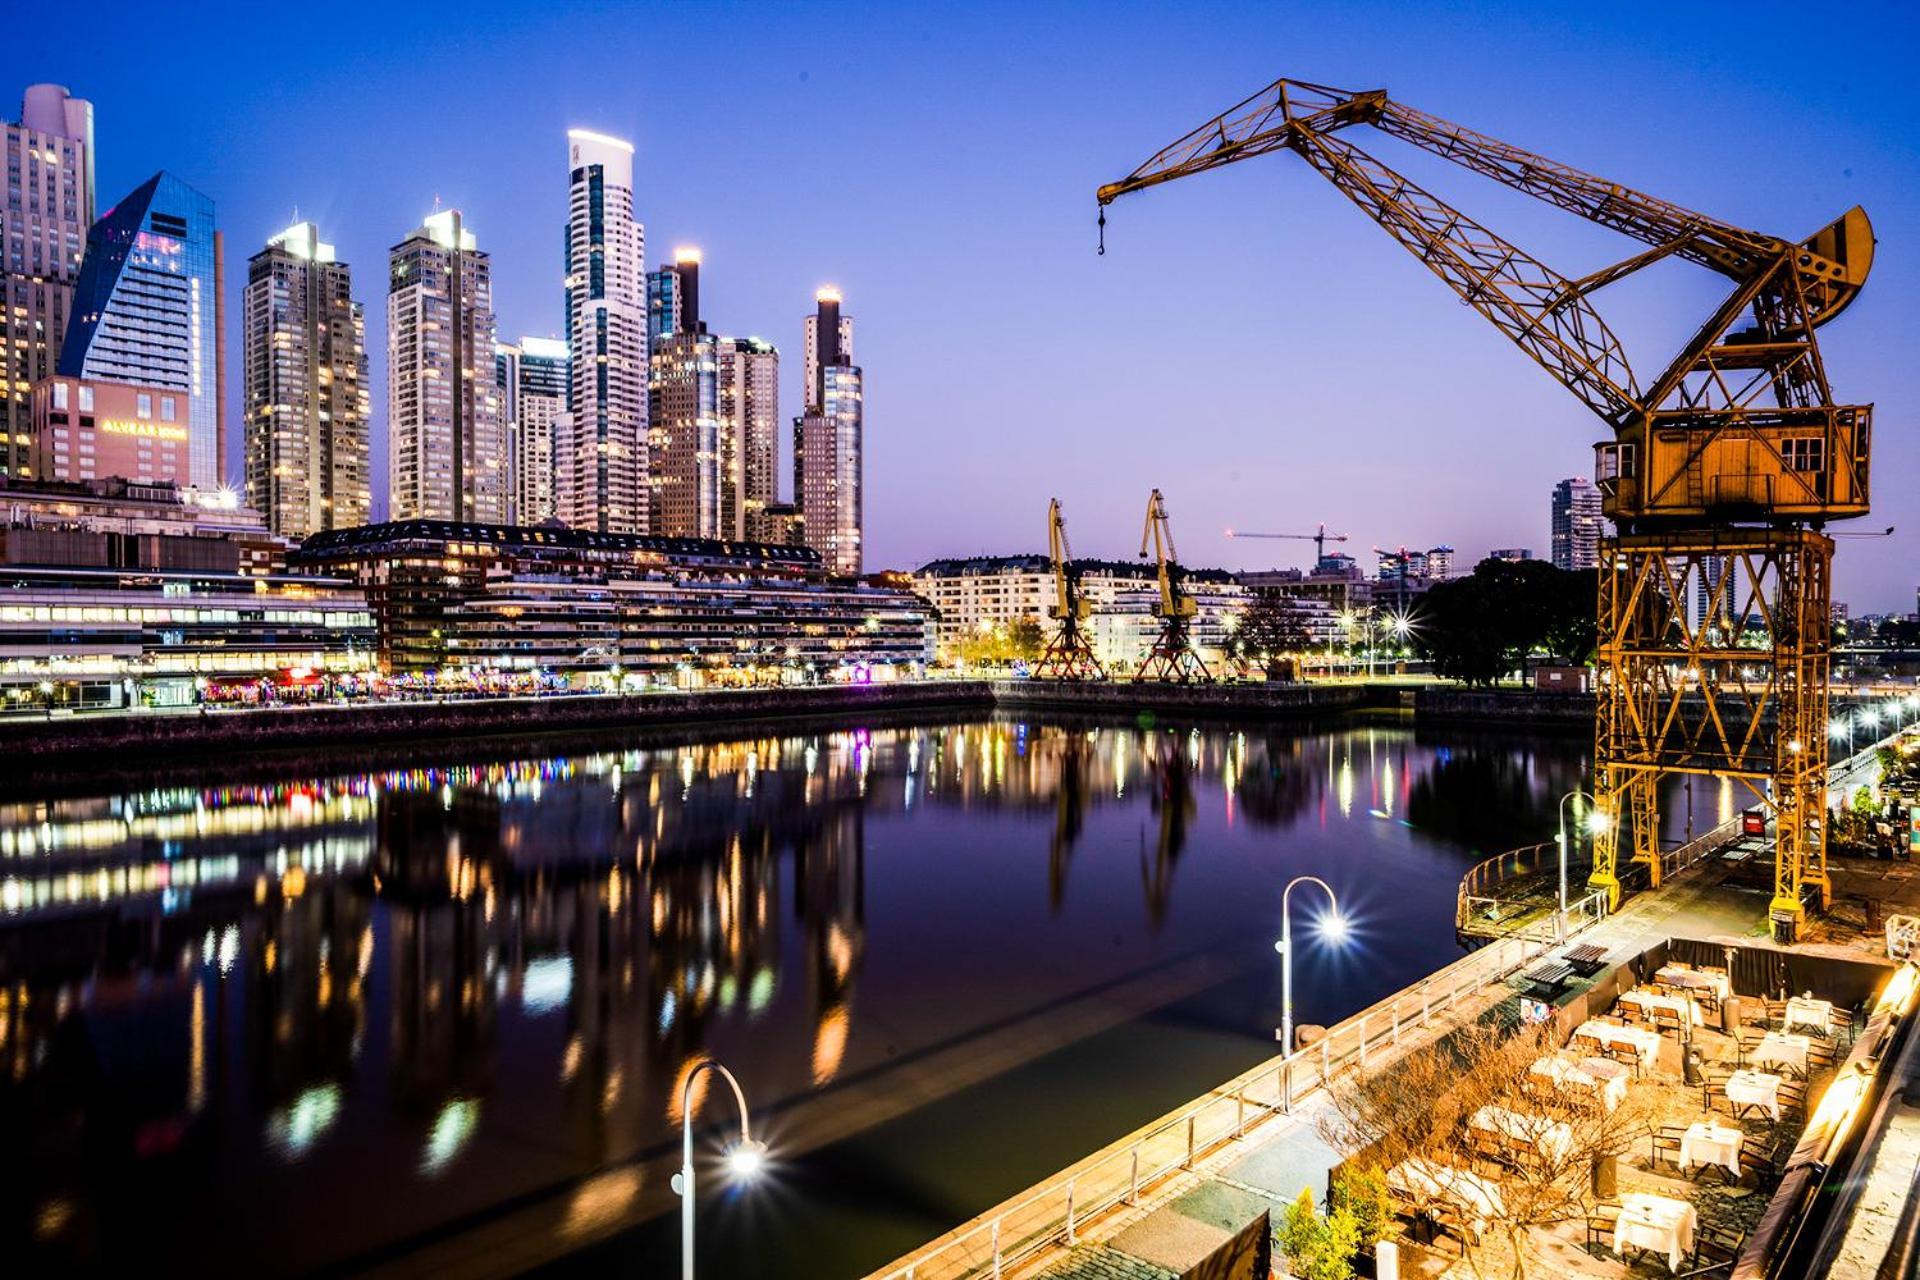
[[[566,338],[570,424],[557,441],[561,520],[645,533],[647,253],[634,221],[634,144],[566,134]]]

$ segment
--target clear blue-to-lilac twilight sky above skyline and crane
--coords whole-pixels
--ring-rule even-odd
[[[23,0],[56,21],[50,0]],[[1812,27],[1809,29],[1809,21]],[[649,267],[699,244],[703,311],[758,334],[799,411],[801,317],[839,284],[868,390],[868,564],[1044,547],[1131,557],[1154,486],[1190,564],[1308,543],[1548,551],[1548,489],[1599,436],[1571,393],[1292,155],[1119,201],[1094,188],[1269,81],[1392,96],[1740,226],[1860,203],[1874,276],[1822,351],[1876,403],[1874,514],[1836,599],[1920,581],[1920,25],[1907,4],[88,6],[0,42],[0,109],[94,102],[100,207],[156,169],[219,205],[238,476],[246,259],[292,221],[355,269],[386,474],[386,251],[438,196],[493,255],[503,338],[559,334],[570,125],[637,144]],[[1795,48],[1822,35],[1832,56]],[[1859,38],[1851,33],[1860,33]],[[12,119],[12,115],[10,115]],[[1356,142],[1567,274],[1638,246],[1371,130]],[[1667,263],[1599,296],[1644,380],[1722,280]],[[787,451],[781,432],[781,497]],[[378,486],[376,486],[378,493]]]

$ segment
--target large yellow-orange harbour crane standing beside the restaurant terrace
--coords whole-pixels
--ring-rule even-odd
[[[1371,125],[1440,159],[1642,242],[1584,276],[1553,271],[1354,146]],[[1839,405],[1814,330],[1860,292],[1866,213],[1805,240],[1766,236],[1392,102],[1275,81],[1098,192],[1294,152],[1605,424],[1592,887],[1620,896],[1619,850],[1661,879],[1670,771],[1738,777],[1774,814],[1776,936],[1826,906],[1830,520],[1866,514],[1870,405]],[[1102,246],[1104,249],[1104,246]],[[1732,282],[1686,345],[1642,380],[1594,294],[1663,259]],[[1488,422],[1494,415],[1488,413]],[[1688,597],[1709,606],[1690,620]],[[1724,620],[1732,618],[1730,624]],[[1747,679],[1751,676],[1751,679]]]

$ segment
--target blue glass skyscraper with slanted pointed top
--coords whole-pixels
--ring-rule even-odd
[[[227,457],[223,276],[213,201],[156,173],[88,228],[60,347],[63,376],[184,391],[188,476],[204,489],[223,484]]]

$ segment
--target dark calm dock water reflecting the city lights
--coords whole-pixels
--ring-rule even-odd
[[[4,1257],[338,1274],[516,1209],[559,1272],[678,1274],[655,1157],[714,1055],[780,1165],[703,1205],[703,1270],[858,1274],[1271,1054],[1286,877],[1357,921],[1296,969],[1334,1021],[1459,954],[1459,875],[1584,770],[1400,725],[781,733],[0,802]]]

